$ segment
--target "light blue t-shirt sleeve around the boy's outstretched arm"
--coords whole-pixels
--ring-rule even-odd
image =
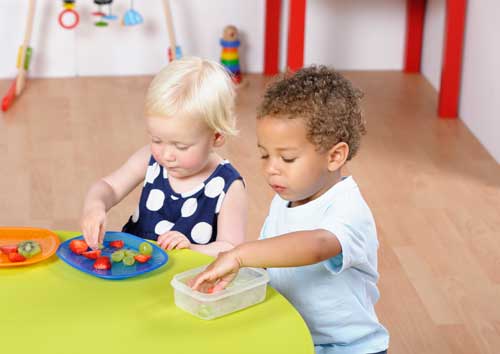
[[[366,264],[368,259],[370,220],[349,214],[331,211],[319,227],[334,234],[342,247],[340,254],[324,261],[325,267],[335,274]]]

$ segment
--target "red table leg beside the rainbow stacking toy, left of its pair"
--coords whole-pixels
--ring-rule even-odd
[[[280,46],[281,0],[266,0],[264,74],[278,73]]]

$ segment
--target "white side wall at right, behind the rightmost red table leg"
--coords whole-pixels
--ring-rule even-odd
[[[422,73],[439,89],[445,0],[429,0]],[[500,1],[468,1],[459,116],[500,163]]]

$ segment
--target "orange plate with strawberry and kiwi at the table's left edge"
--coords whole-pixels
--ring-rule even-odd
[[[37,263],[49,258],[57,251],[61,241],[52,231],[33,227],[0,227],[0,246],[17,245],[22,241],[32,240],[40,244],[42,252],[24,262],[11,262],[0,251],[0,267],[17,267]]]

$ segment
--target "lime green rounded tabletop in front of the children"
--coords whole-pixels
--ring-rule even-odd
[[[78,235],[56,232],[61,240]],[[169,251],[167,265],[110,281],[80,272],[56,255],[28,267],[0,269],[0,348],[32,354],[312,354],[305,322],[268,287],[266,300],[205,321],[177,308],[172,277],[209,263]]]

